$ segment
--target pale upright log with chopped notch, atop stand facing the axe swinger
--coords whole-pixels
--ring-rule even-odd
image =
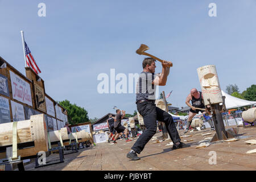
[[[197,74],[204,97],[204,104],[210,105],[210,103],[218,104],[223,102],[215,65],[205,65],[197,68]],[[210,103],[208,99],[210,99]]]

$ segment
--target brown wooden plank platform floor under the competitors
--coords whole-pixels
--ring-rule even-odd
[[[233,126],[234,127],[234,126]],[[204,138],[213,137],[215,131],[209,129],[193,131],[183,137],[182,141],[193,139],[191,147],[172,150],[172,146],[166,146],[171,140],[164,140],[160,143],[153,143],[150,140],[144,150],[138,156],[141,160],[133,161],[126,158],[136,138],[132,142],[118,140],[117,144],[108,142],[96,144],[96,146],[79,150],[75,154],[64,156],[64,163],[54,164],[52,166],[34,168],[35,163],[25,166],[26,170],[51,170],[51,171],[163,171],[163,170],[256,170],[256,154],[246,154],[247,151],[256,148],[256,145],[246,144],[249,139],[256,139],[256,127],[239,127],[240,140],[235,142],[220,142],[210,144],[206,148],[196,148],[199,142]],[[179,131],[182,135],[183,131]],[[201,135],[211,133],[210,135]],[[197,135],[198,134],[198,135]],[[199,135],[200,134],[200,135]],[[161,139],[162,133],[155,134],[155,137]],[[250,136],[250,137],[249,137]],[[217,164],[209,164],[210,151],[216,152]],[[56,160],[59,155],[50,155],[48,160]]]

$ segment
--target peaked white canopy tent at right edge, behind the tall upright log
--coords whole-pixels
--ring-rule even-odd
[[[255,105],[255,101],[246,101],[242,100],[241,98],[230,96],[229,94],[225,93],[223,90],[221,90],[222,96],[225,96],[225,105],[226,109],[232,109],[236,107],[243,107],[243,106],[250,106]]]

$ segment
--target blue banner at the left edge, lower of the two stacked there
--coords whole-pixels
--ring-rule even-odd
[[[11,122],[9,100],[0,96],[0,123]]]

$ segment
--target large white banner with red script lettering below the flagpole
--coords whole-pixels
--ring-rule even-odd
[[[12,71],[10,71],[10,77],[13,98],[17,101],[23,102],[24,104],[32,106],[30,84]]]

